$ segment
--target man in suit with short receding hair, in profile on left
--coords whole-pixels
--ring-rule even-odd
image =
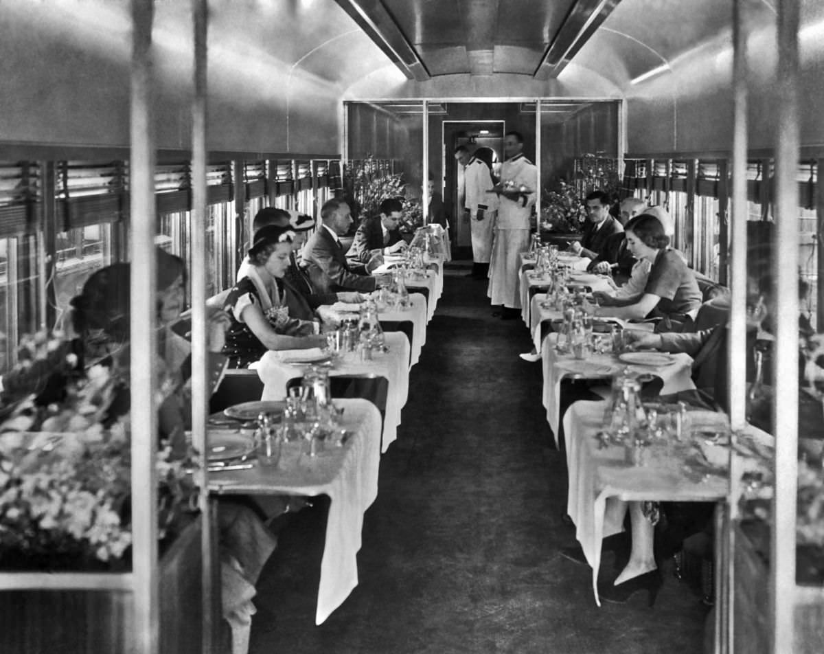
[[[303,248],[303,262],[316,293],[370,293],[377,288],[377,279],[370,273],[383,263],[383,257],[372,256],[365,264],[353,263],[347,261],[340,243],[340,237],[352,225],[351,213],[344,200],[327,200],[321,207],[323,224]]]

